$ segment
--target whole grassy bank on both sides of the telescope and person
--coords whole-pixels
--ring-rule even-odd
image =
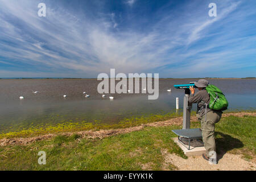
[[[192,122],[192,127],[199,127]],[[171,130],[181,126],[145,127],[143,130],[104,139],[79,135],[57,136],[27,146],[0,147],[0,170],[162,170],[176,169],[164,161],[163,150],[187,158],[172,141]],[[229,116],[216,125],[217,152],[256,154],[256,117]],[[46,165],[38,164],[38,152],[46,152]]]

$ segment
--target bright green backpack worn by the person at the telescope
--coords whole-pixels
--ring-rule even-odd
[[[206,88],[210,96],[209,108],[213,110],[226,110],[228,109],[228,100],[217,86],[208,85]]]

